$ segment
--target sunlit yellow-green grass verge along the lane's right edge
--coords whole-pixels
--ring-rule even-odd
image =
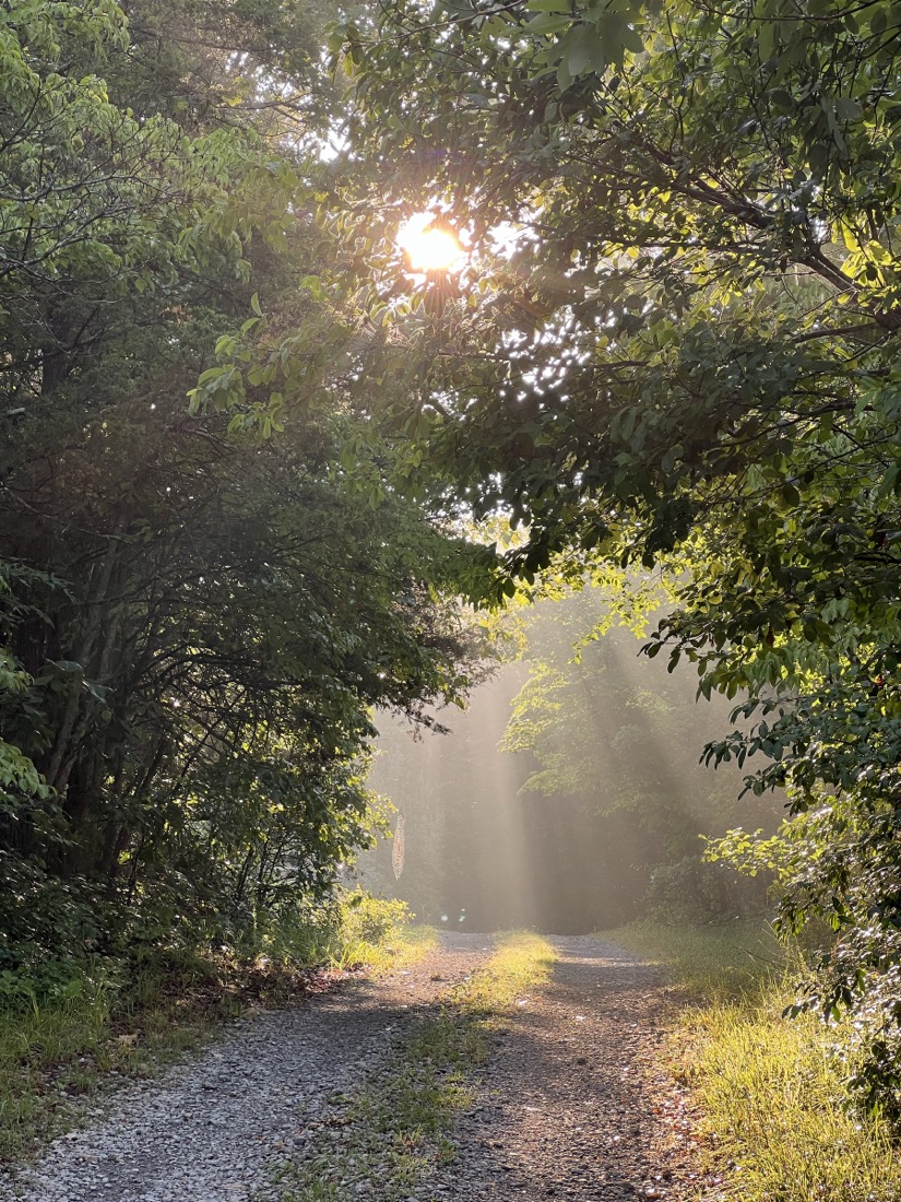
[[[901,1202],[901,1155],[847,1097],[851,1033],[783,1018],[800,952],[760,927],[627,927],[605,933],[666,964],[680,1005],[672,1069],[702,1113],[710,1167],[741,1202]]]

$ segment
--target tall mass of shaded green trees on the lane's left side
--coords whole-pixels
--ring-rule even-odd
[[[258,293],[328,326],[321,19],[0,13],[0,970],[38,1004],[303,924],[371,838],[371,707],[467,685],[466,548],[348,483],[340,392],[278,446],[189,413]]]

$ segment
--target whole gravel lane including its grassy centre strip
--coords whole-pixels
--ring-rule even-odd
[[[488,935],[447,934],[412,968],[245,1017],[115,1093],[94,1125],[0,1180],[0,1200],[717,1197],[661,1064],[657,970],[604,940],[551,942],[549,980],[463,1025],[454,989],[489,962]]]

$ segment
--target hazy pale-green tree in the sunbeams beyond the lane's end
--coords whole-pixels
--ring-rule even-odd
[[[728,708],[711,713],[696,702],[691,676],[643,659],[631,633],[609,629],[611,609],[592,588],[560,591],[517,619],[529,678],[501,750],[527,751],[537,762],[520,792],[549,796],[554,807],[578,798],[583,829],[616,815],[629,823],[631,839],[610,835],[610,859],[633,849],[645,902],[664,921],[760,909],[769,874],[752,886],[723,864],[706,867],[699,832],[720,831],[748,809],[772,826],[781,798],[736,808],[735,774],[698,764],[698,749]],[[609,874],[613,863],[596,870]]]

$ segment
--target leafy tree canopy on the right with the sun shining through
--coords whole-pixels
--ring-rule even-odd
[[[386,331],[358,370],[389,385],[375,409],[398,477],[527,526],[494,600],[555,553],[574,576],[668,564],[649,654],[747,697],[710,756],[762,752],[750,787],[788,786],[816,816],[783,923],[831,917],[818,1004],[879,998],[885,1039],[897,20],[831,0],[392,0],[335,38],[358,106],[339,224]],[[443,280],[392,242],[424,203],[469,239]]]

